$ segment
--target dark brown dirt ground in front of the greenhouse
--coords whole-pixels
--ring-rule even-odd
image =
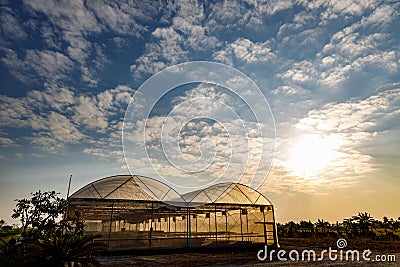
[[[310,240],[307,240],[310,241]],[[314,240],[315,241],[315,240]],[[291,250],[297,250],[300,254],[299,261],[280,261],[276,257],[272,260],[269,258],[265,261],[260,261],[257,258],[257,252],[263,249],[263,246],[253,246],[246,248],[204,248],[204,249],[176,249],[176,250],[152,250],[152,251],[126,251],[118,253],[108,253],[98,257],[97,260],[103,267],[125,267],[125,266],[400,266],[400,250],[399,244],[384,243],[384,242],[364,242],[358,240],[357,242],[349,241],[347,249],[359,250],[360,261],[352,261],[349,256],[349,261],[335,260],[331,261],[328,255],[324,255],[322,261],[307,261],[301,260],[301,253],[303,250],[313,249],[316,251],[316,258],[320,257],[320,252],[323,249],[337,249],[336,240],[321,240],[321,242],[306,242],[306,240],[282,240],[279,249],[285,250],[285,257],[288,258],[288,253]],[[364,249],[370,249],[372,254],[370,258],[372,261],[365,261],[362,259]],[[346,249],[343,249],[343,255],[346,255]],[[263,254],[262,254],[263,255]],[[293,254],[295,255],[295,254]],[[376,255],[394,255],[395,262],[377,262],[375,261]],[[340,258],[337,253],[338,259]]]

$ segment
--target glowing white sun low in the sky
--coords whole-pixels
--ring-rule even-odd
[[[288,168],[295,176],[307,180],[318,178],[339,157],[339,144],[338,138],[333,135],[303,135],[289,149]]]

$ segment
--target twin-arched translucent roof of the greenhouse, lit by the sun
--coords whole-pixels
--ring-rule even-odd
[[[155,179],[139,175],[117,175],[99,179],[82,187],[69,199],[164,201],[172,205],[238,204],[272,205],[260,192],[237,183],[220,183],[179,195]]]

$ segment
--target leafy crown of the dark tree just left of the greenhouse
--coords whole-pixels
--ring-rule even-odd
[[[31,193],[30,199],[16,199],[16,208],[12,218],[20,219],[22,236],[48,232],[56,226],[56,220],[64,213],[66,200],[60,198],[55,191]],[[29,231],[28,231],[29,229]]]

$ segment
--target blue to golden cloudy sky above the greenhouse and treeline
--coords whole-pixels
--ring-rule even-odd
[[[199,60],[240,70],[268,100],[275,158],[270,169],[263,167],[269,174],[259,190],[276,205],[278,219],[336,221],[358,211],[400,216],[397,1],[0,5],[0,218],[12,222],[13,200],[30,192],[56,189],[65,196],[71,174],[75,191],[128,173],[121,132],[134,92],[166,67]],[[266,127],[246,117],[240,96],[217,87],[195,84],[167,95],[148,129],[178,106],[190,113],[182,103],[199,98],[209,99],[206,115],[223,116],[223,103],[244,114],[246,129]],[[237,163],[232,155],[242,155],[232,149],[241,147],[232,146],[229,132],[236,121],[227,118],[197,118],[180,128],[185,159],[215,152],[210,175],[225,172],[224,159]],[[260,140],[245,141],[241,151],[252,160],[244,169],[237,164],[243,179],[257,172],[252,163]],[[131,163],[145,173],[143,162]]]

